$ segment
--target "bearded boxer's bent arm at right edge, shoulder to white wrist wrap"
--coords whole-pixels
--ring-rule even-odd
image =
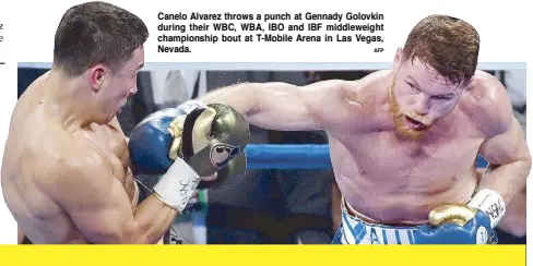
[[[495,86],[493,105],[487,107],[488,119],[485,121],[489,128],[489,137],[479,149],[489,166],[482,178],[479,190],[491,189],[498,192],[508,205],[525,188],[531,170],[531,154],[505,88],[499,83]]]

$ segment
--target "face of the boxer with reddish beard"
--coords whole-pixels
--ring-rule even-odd
[[[401,52],[394,59],[391,111],[396,130],[416,140],[453,109],[464,87],[417,59],[402,60]]]

